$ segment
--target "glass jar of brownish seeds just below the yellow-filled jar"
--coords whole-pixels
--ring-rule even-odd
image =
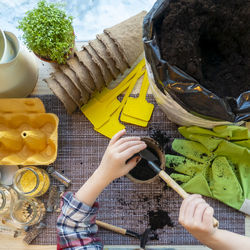
[[[11,218],[17,228],[24,228],[39,223],[45,215],[44,204],[33,197],[22,197],[11,209]]]

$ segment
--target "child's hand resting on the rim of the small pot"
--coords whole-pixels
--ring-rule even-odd
[[[124,137],[126,131],[121,130],[113,136],[104,153],[101,164],[96,170],[106,181],[113,181],[127,174],[140,160],[139,156],[126,161],[134,154],[147,147],[146,143],[141,141],[140,137]]]

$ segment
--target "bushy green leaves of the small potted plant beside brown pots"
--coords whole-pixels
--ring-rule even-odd
[[[65,63],[74,47],[73,17],[61,9],[62,4],[41,0],[37,8],[27,11],[19,22],[27,47],[41,57]]]

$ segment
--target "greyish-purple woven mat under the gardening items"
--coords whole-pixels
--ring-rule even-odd
[[[77,191],[97,168],[107,147],[108,139],[95,132],[90,122],[80,112],[67,115],[64,107],[55,96],[40,96],[47,112],[60,118],[59,151],[55,168],[72,180],[69,191]],[[155,104],[153,97],[149,101]],[[149,129],[127,125],[128,135],[148,136]],[[149,127],[165,131],[171,137],[179,137],[177,126],[170,122],[155,105]],[[55,182],[56,183],[56,182]],[[47,197],[45,196],[44,199]],[[240,234],[245,233],[244,215],[226,205],[207,199],[215,209],[215,217],[220,228]],[[134,184],[122,177],[109,185],[98,198],[100,210],[98,219],[113,225],[122,226],[136,232],[144,232],[148,226],[148,211],[160,208],[168,212],[174,227],[158,229],[159,240],[150,245],[193,245],[199,244],[178,224],[178,211],[181,198],[165,184],[156,180],[152,184]],[[56,244],[56,219],[58,214],[48,214],[47,229],[33,242],[34,244]],[[138,240],[121,236],[103,229],[98,236],[105,245],[135,245]]]

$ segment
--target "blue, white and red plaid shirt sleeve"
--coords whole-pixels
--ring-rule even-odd
[[[100,239],[95,237],[98,203],[93,207],[78,201],[73,193],[65,193],[61,201],[62,212],[57,219],[57,249],[99,250]]]

